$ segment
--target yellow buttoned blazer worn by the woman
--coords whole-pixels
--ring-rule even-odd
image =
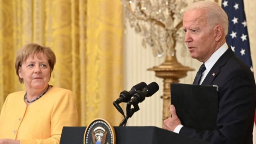
[[[59,144],[63,126],[77,126],[78,114],[73,92],[52,87],[26,106],[26,91],[9,94],[0,114],[0,139],[21,144]]]

